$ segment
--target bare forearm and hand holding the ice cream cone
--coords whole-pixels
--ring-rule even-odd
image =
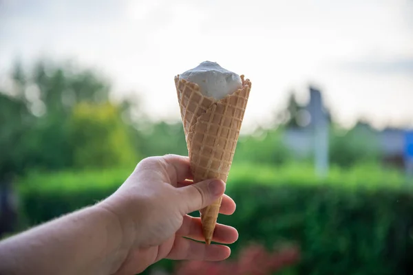
[[[0,274],[137,274],[161,259],[222,261],[226,245],[202,242],[200,210],[222,196],[221,214],[235,202],[225,184],[191,181],[188,157],[143,159],[103,201],[0,242]],[[237,240],[235,228],[218,224],[213,241]]]

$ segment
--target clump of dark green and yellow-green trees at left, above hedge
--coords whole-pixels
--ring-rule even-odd
[[[127,125],[108,103],[109,82],[96,72],[48,61],[25,71],[17,62],[3,89],[0,183],[33,169],[136,161]]]

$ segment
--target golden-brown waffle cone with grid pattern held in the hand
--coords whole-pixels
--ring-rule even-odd
[[[193,182],[222,179],[226,183],[233,161],[249,92],[250,80],[241,76],[242,88],[215,100],[204,96],[197,84],[175,77],[180,114]],[[211,243],[222,197],[200,210],[206,243]]]

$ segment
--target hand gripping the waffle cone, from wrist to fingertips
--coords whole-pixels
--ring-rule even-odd
[[[220,213],[233,214],[235,202],[223,195],[223,181],[193,184],[191,179],[188,157],[149,157],[114,195],[100,203],[116,214],[123,228],[120,250],[126,250],[127,256],[116,274],[136,274],[161,259],[221,261],[229,257],[231,250],[225,245],[197,242],[204,241],[202,224],[188,213],[222,196]],[[213,241],[233,243],[237,238],[235,228],[216,225]]]

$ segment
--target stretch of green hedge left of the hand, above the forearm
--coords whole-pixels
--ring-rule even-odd
[[[35,225],[92,205],[111,195],[132,170],[31,173],[19,182],[21,212],[29,225]]]

